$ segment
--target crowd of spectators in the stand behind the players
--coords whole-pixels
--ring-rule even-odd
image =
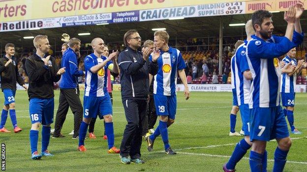
[[[211,38],[210,38],[211,39]],[[211,41],[212,45],[207,45],[206,42]],[[235,42],[232,39],[225,39],[225,46],[223,47],[222,53],[222,72],[219,75],[219,53],[218,40],[211,39],[205,40],[203,38],[189,38],[185,41],[179,40],[178,42],[170,41],[170,45],[177,44],[177,48],[181,49],[182,56],[185,61],[185,74],[187,76],[188,83],[196,84],[225,84],[231,83],[231,69],[230,60],[235,53],[233,46],[228,43]],[[123,50],[123,45],[120,43],[109,44],[109,49]],[[172,46],[175,47],[175,46]],[[28,56],[33,53],[33,48],[15,48],[15,56],[17,57],[18,71],[19,74],[25,80],[25,83],[29,83],[29,77],[25,72],[25,61]],[[92,52],[90,44],[83,44],[81,50],[81,61],[79,64],[79,70],[84,70],[84,57]],[[61,60],[61,51],[54,52],[50,49],[50,54],[53,54],[56,58],[56,63],[59,65]],[[2,52],[3,55],[3,52]],[[297,59],[306,59],[306,48],[297,48]],[[302,72],[303,76],[306,76],[306,70]],[[79,83],[84,83],[85,78],[79,77]],[[120,78],[114,78],[114,83],[119,83]],[[178,79],[178,83],[180,83]],[[305,83],[305,77],[299,76],[298,83]]]

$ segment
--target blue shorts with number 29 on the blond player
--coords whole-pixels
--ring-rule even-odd
[[[164,96],[153,94],[156,115],[165,115],[168,118],[175,120],[177,98],[175,96]]]

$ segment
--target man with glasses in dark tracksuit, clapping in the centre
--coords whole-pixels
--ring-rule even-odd
[[[150,49],[138,51],[141,40],[137,30],[128,30],[123,36],[126,48],[119,55],[121,69],[121,93],[127,120],[121,145],[123,164],[143,164],[141,160],[142,123],[146,118],[146,105],[149,96],[148,58]],[[151,73],[153,74],[153,73]],[[153,74],[154,75],[154,74]]]

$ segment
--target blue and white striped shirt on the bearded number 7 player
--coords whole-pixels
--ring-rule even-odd
[[[249,108],[276,107],[279,105],[280,72],[275,68],[274,58],[286,54],[302,43],[303,35],[293,34],[291,42],[286,37],[273,36],[275,42],[266,42],[256,35],[247,43],[246,57],[253,81],[250,86]]]

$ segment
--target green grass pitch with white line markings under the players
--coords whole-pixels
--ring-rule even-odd
[[[80,96],[83,102],[83,91]],[[2,96],[3,97],[3,96]],[[115,146],[120,147],[126,124],[120,92],[113,92],[113,121]],[[303,132],[291,134],[292,147],[288,154],[285,172],[307,171],[307,94],[296,94],[294,111],[295,125]],[[3,103],[3,98],[0,99]],[[73,140],[68,133],[73,129],[73,115],[69,110],[61,133],[65,138],[50,139],[48,149],[54,157],[31,159],[29,131],[29,100],[27,92],[16,93],[16,114],[21,133],[0,133],[0,143],[6,145],[6,171],[9,172],[222,172],[222,165],[228,161],[236,143],[243,137],[228,136],[229,114],[232,107],[231,93],[192,92],[189,100],[184,100],[183,92],[178,92],[177,115],[175,123],[168,129],[171,147],[177,155],[163,152],[161,137],[154,143],[154,151],[147,151],[147,144],[142,144],[142,158],[145,164],[121,164],[118,154],[107,153],[107,141],[103,140],[103,122],[95,124],[96,140],[86,139],[86,152],[77,151],[78,140]],[[58,108],[59,91],[55,91],[55,114]],[[158,122],[156,123],[156,125]],[[52,124],[53,128],[54,124]],[[236,130],[242,127],[240,113],[237,117]],[[10,118],[6,128],[13,131]],[[38,150],[41,148],[39,133]],[[272,171],[276,142],[267,145],[268,171]],[[237,172],[249,171],[249,151],[237,164]]]

